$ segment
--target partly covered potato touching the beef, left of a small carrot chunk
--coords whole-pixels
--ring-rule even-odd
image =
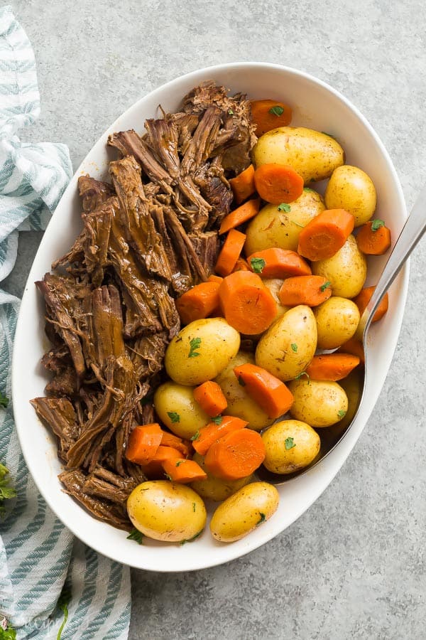
[[[154,407],[160,420],[171,432],[187,440],[211,420],[195,402],[193,391],[194,387],[169,380],[154,394]]]

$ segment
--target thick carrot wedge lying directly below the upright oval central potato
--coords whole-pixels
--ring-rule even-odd
[[[278,418],[293,405],[293,393],[275,375],[266,369],[246,363],[234,367],[238,380],[242,380],[251,398],[271,418]]]

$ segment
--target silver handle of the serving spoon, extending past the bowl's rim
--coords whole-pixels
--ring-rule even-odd
[[[422,191],[420,191],[410,215],[407,220],[405,220],[405,225],[398,236],[398,240],[395,242],[395,246],[388,258],[388,262],[386,262],[385,268],[381,273],[381,277],[378,279],[376,289],[374,289],[373,295],[371,296],[364,314],[362,315],[360,324],[363,326],[364,335],[366,334],[366,331],[368,331],[368,327],[371,324],[371,320],[373,319],[373,315],[378,305],[381,303],[381,299],[386,294],[389,287],[391,287],[393,280],[402,269],[405,260],[407,260],[408,256],[413,251],[417,242],[422,238],[425,230],[426,185],[422,188]]]

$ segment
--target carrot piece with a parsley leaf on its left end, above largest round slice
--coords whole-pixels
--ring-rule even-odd
[[[251,270],[264,278],[287,278],[290,276],[312,274],[306,260],[290,249],[263,249],[247,258]]]

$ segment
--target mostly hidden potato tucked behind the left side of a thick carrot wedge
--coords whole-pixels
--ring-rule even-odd
[[[224,411],[226,415],[234,415],[249,422],[249,428],[260,431],[264,427],[268,427],[273,419],[261,409],[257,402],[251,398],[244,387],[239,382],[234,373],[234,367],[242,364],[254,364],[254,356],[246,351],[239,351],[231,362],[219,373],[215,382],[222,388],[228,406]]]

